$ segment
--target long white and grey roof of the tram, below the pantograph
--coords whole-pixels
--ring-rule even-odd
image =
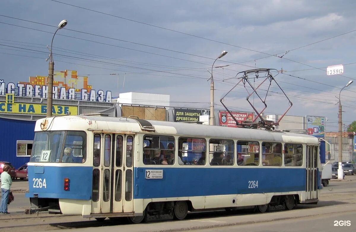
[[[49,118],[49,130],[93,130],[115,132],[143,132],[139,123],[133,118],[126,117],[105,117],[105,116],[58,116],[51,122]],[[43,119],[37,120],[35,131],[42,131],[40,124]],[[235,128],[211,125],[200,125],[194,123],[167,122],[147,120],[150,122],[158,134],[214,137],[214,138],[243,138],[248,140],[284,141],[318,144],[318,139],[314,136],[269,131],[251,128]],[[74,125],[74,126],[73,126]],[[147,132],[149,133],[149,132]]]

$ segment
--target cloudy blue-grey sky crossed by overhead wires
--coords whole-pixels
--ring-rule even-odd
[[[169,94],[173,107],[208,109],[208,69],[227,51],[214,67],[228,66],[213,68],[216,111],[224,110],[220,99],[241,80],[239,72],[268,68],[293,104],[288,115],[325,116],[326,131],[337,131],[336,97],[356,80],[352,0],[3,0],[1,5],[0,80],[5,83],[48,75],[46,46],[63,19],[68,25],[54,38],[54,69],[77,70],[93,89],[111,90],[113,97]],[[339,64],[344,73],[326,75],[326,67]],[[264,76],[248,80],[258,86]],[[266,97],[266,114],[283,114],[288,107],[276,82],[269,86],[267,80],[257,91]],[[248,93],[251,88],[240,83],[224,104],[251,112]],[[356,83],[341,92],[345,125],[355,120],[355,97]],[[250,100],[263,109],[257,95]]]

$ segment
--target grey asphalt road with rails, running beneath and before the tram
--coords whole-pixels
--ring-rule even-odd
[[[29,201],[24,193],[15,193],[10,204],[10,215],[0,215],[0,231],[22,232],[25,230],[70,230],[75,232],[98,231],[355,231],[356,230],[356,176],[346,180],[332,180],[319,193],[317,205],[298,205],[291,211],[274,210],[268,213],[225,211],[190,213],[182,221],[161,221],[129,224],[126,220],[97,222],[82,216],[25,215]],[[13,189],[26,189],[27,181],[15,181]],[[350,220],[350,226],[334,226],[334,221]]]

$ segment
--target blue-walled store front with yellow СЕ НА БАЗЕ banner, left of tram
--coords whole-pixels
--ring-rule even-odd
[[[46,117],[41,108],[47,102],[40,97],[16,94],[12,97],[12,103],[7,103],[9,95],[0,95],[0,161],[10,162],[17,169],[30,160],[36,120]],[[53,105],[68,109],[71,115],[100,113],[116,116],[115,103],[112,102],[53,99]],[[11,112],[8,111],[10,108]],[[63,111],[56,115],[65,114]]]

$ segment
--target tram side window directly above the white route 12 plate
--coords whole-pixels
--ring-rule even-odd
[[[143,136],[143,163],[146,165],[173,165],[174,137]]]

